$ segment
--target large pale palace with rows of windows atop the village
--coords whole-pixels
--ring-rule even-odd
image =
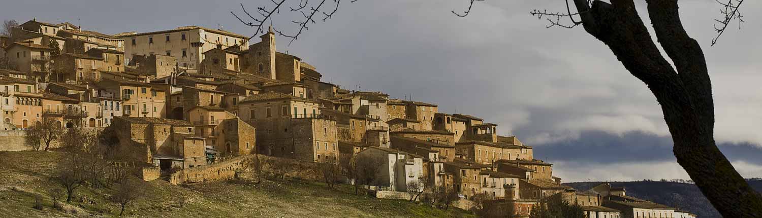
[[[197,26],[149,33],[119,33],[114,36],[126,43],[126,57],[152,54],[173,56],[181,68],[188,69],[200,68],[204,60],[203,53],[211,49],[227,49],[231,46],[248,48],[248,36]]]

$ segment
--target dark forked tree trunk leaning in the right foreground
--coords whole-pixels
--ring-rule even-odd
[[[725,217],[762,217],[762,197],[714,141],[712,85],[703,51],[680,23],[677,0],[646,0],[661,55],[632,0],[574,0],[584,30],[609,46],[654,93],[674,142],[677,163]]]

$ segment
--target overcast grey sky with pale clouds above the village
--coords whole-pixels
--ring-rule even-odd
[[[109,34],[199,25],[251,35],[230,11],[240,12],[239,3],[254,11],[269,2],[7,1],[0,18],[69,21]],[[555,163],[567,182],[688,179],[645,85],[581,28],[546,29],[547,21],[529,14],[563,11],[562,1],[485,1],[469,17],[450,13],[467,2],[344,0],[331,20],[312,24],[290,46],[279,38],[277,46],[347,89],[381,90],[496,123],[500,134],[517,135],[535,147],[536,158]],[[650,24],[645,3],[636,2]],[[714,0],[682,1],[681,20],[706,55],[721,149],[742,175],[762,177],[762,44],[756,40],[762,17],[744,13],[741,30],[733,24],[710,47],[719,9]],[[762,11],[762,2],[744,2],[742,11]],[[294,32],[293,18],[283,11],[274,26]]]

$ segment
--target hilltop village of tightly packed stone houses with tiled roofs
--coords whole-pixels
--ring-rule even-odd
[[[378,176],[363,184],[376,190],[417,191],[426,182],[463,199],[488,197],[522,217],[551,196],[591,218],[695,217],[605,183],[588,191],[562,185],[533,147],[498,135],[498,125],[478,115],[342,89],[275,42],[272,29],[249,40],[197,26],[108,35],[27,21],[0,38],[0,130],[117,128],[117,155],[156,169],[146,180],[253,154],[356,158],[380,160]],[[70,122],[73,114],[81,122]]]

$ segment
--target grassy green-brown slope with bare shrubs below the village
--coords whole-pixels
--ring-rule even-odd
[[[0,214],[3,217],[112,217],[119,213],[108,188],[79,188],[66,211],[52,208],[46,187],[56,152],[0,152]],[[437,210],[407,201],[358,196],[349,186],[329,190],[319,182],[265,180],[171,185],[146,182],[144,197],[127,207],[129,217],[473,217],[469,212]],[[43,210],[33,209],[34,194],[43,194]],[[177,196],[187,196],[180,207]],[[85,203],[79,201],[82,196]],[[75,202],[76,201],[76,202]],[[72,212],[75,211],[75,212]],[[89,214],[88,214],[89,213]]]

